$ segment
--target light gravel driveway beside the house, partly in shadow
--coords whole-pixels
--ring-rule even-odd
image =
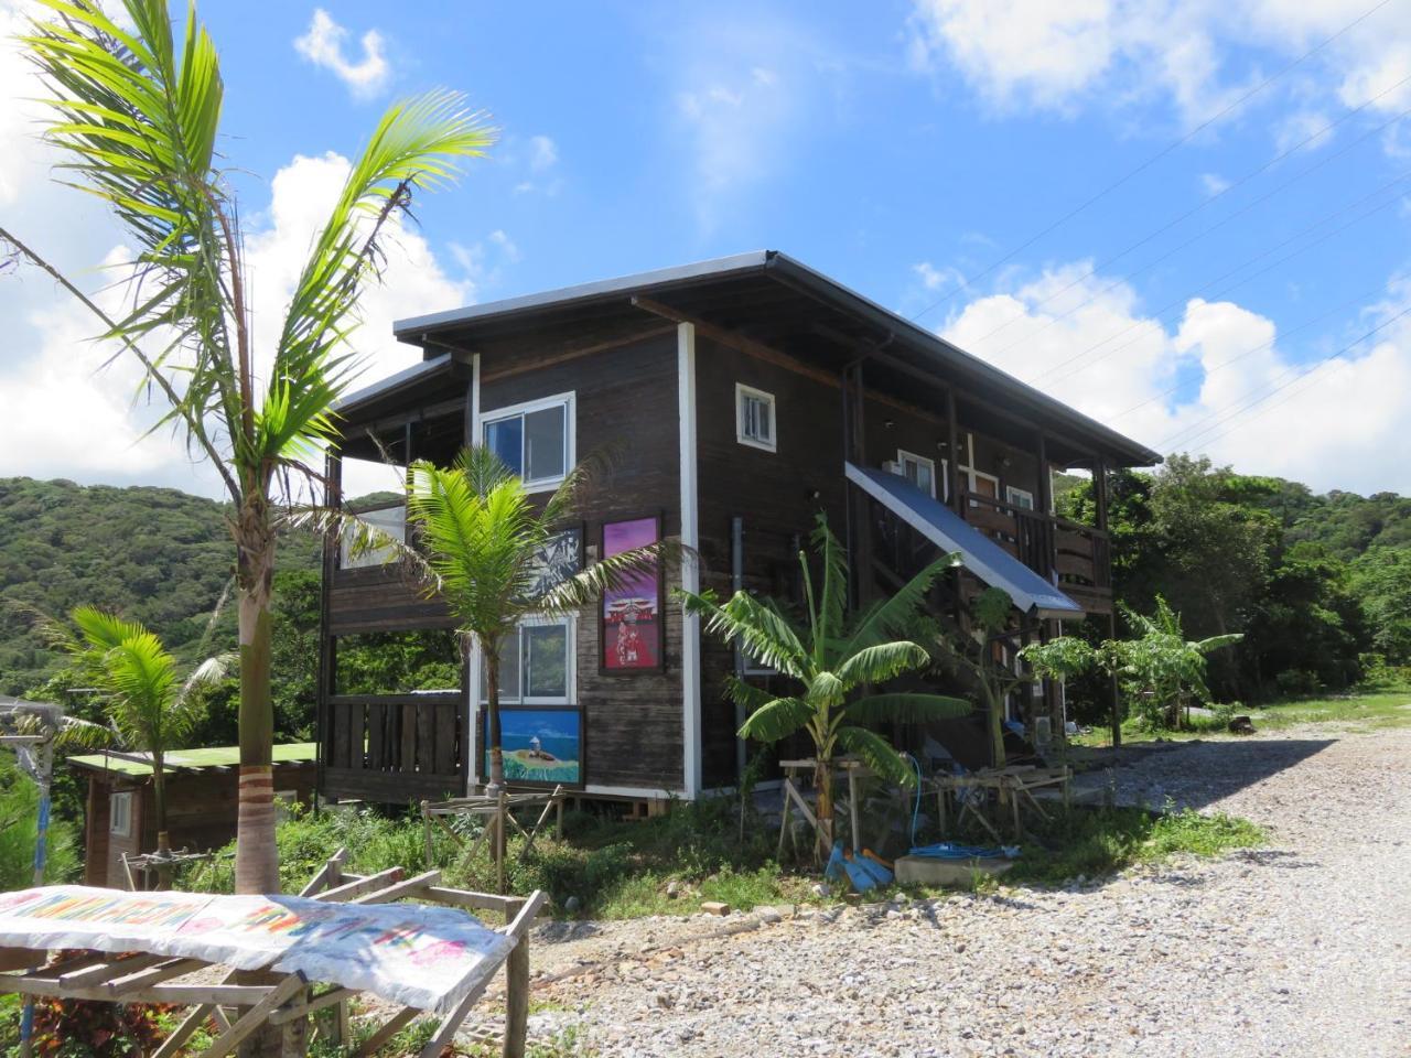
[[[531,1031],[602,1055],[1411,1055],[1408,766],[1411,728],[1153,753],[1119,786],[1270,846],[1067,892],[546,924]]]

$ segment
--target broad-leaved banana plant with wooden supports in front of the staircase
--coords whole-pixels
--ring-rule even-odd
[[[737,591],[722,605],[708,594],[679,594],[689,611],[707,618],[708,632],[739,643],[751,657],[800,684],[789,695],[769,694],[738,677],[729,677],[727,687],[731,700],[749,711],[739,729],[742,738],[772,743],[804,731],[813,739],[818,839],[831,849],[835,750],[855,753],[883,779],[910,786],[916,776],[906,758],[868,725],[958,717],[969,711],[969,703],[943,694],[871,690],[872,684],[928,664],[926,647],[897,636],[914,626],[927,592],[941,573],[957,564],[955,556],[937,559],[890,598],[849,616],[848,554],[823,515],[811,543],[823,566],[823,585],[816,595],[809,556],[800,552],[803,624],[773,600],[756,600],[745,591]],[[854,697],[859,687],[861,697]]]

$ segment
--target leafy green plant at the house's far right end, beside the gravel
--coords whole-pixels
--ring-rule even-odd
[[[1120,605],[1120,604],[1119,604]],[[1212,650],[1237,643],[1237,632],[1209,639],[1187,640],[1181,615],[1161,597],[1156,614],[1146,616],[1120,605],[1136,639],[1102,645],[1105,667],[1115,673],[1133,711],[1149,728],[1181,726],[1181,705],[1191,697],[1209,701],[1205,659]]]

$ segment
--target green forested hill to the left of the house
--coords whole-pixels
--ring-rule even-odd
[[[284,542],[282,570],[317,568],[319,542]],[[179,655],[196,650],[233,570],[224,506],[174,488],[113,488],[0,478],[0,693],[41,683],[58,659],[28,608],[62,616],[110,607],[143,621]],[[214,636],[234,639],[234,607]]]

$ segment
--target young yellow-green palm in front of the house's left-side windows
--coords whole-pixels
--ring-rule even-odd
[[[454,466],[425,460],[408,474],[408,523],[425,550],[429,594],[439,594],[463,636],[480,647],[490,718],[490,786],[504,786],[499,746],[501,643],[525,618],[579,609],[604,591],[655,568],[680,546],[666,542],[598,559],[593,566],[543,583],[542,559],[593,485],[598,460],[584,460],[542,504],[487,447],[461,450]],[[371,543],[380,543],[371,539]],[[571,647],[570,647],[571,649]]]

